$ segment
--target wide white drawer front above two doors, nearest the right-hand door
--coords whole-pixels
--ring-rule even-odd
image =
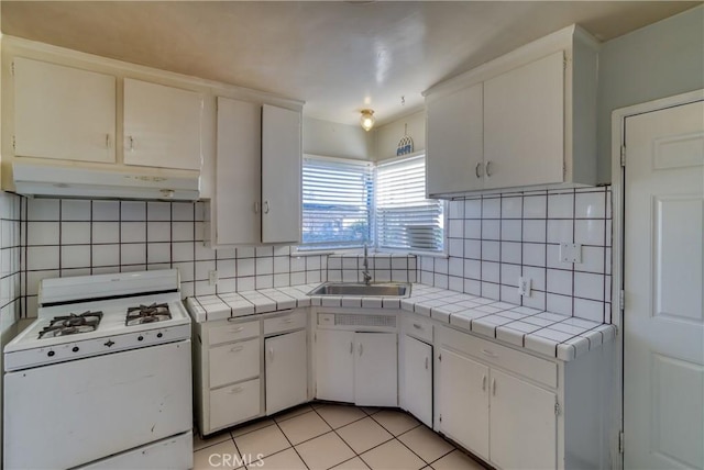
[[[442,328],[441,342],[484,362],[503,367],[553,389],[558,387],[556,362],[450,328]]]

